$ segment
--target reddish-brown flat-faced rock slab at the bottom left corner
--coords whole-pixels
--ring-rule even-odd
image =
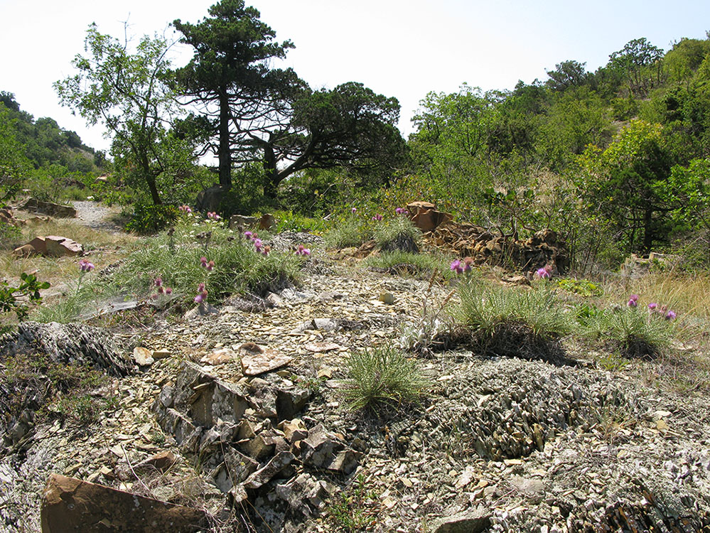
[[[191,507],[52,474],[42,498],[42,533],[198,532],[205,513]]]

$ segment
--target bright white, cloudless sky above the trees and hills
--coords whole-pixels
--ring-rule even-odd
[[[100,126],[87,127],[60,107],[52,84],[74,72],[87,26],[138,39],[166,32],[176,18],[196,23],[215,0],[0,0],[0,90],[14,93],[21,109],[52,117],[85,144],[108,149]],[[291,67],[311,87],[362,82],[402,106],[399,129],[412,131],[419,102],[431,91],[457,92],[463,82],[483,90],[510,90],[518,80],[547,79],[546,70],[574,59],[587,70],[634,38],[668,50],[682,37],[705,38],[706,0],[246,0],[291,40],[280,67]],[[176,48],[174,64],[190,58]]]

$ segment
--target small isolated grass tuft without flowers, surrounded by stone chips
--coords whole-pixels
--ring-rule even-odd
[[[416,402],[424,394],[426,379],[413,360],[385,347],[350,355],[344,384],[351,409],[377,409]]]

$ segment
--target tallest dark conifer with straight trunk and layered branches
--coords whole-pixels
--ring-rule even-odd
[[[237,131],[269,118],[271,109],[264,104],[296,82],[291,70],[269,68],[270,60],[284,58],[294,45],[276,43],[276,33],[243,0],[222,0],[208,13],[210,18],[198,24],[173,21],[183,34],[181,42],[195,49],[190,63],[177,71],[177,80],[186,103],[201,106],[203,114],[193,117],[193,124],[206,133],[205,151],[219,158],[220,185],[230,188]]]

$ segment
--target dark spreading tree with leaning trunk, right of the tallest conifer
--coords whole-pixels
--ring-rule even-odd
[[[365,181],[385,183],[406,157],[396,126],[399,102],[362,83],[305,88],[277,114],[264,129],[244,132],[245,144],[262,155],[267,198],[276,198],[279,183],[307,168],[345,167]]]

